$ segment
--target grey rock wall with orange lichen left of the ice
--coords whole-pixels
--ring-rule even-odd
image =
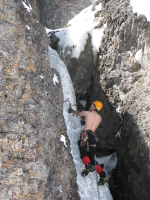
[[[0,199],[79,199],[69,141],[60,141],[62,89],[31,5],[0,0]]]

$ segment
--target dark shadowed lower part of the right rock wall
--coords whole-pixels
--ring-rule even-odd
[[[118,163],[110,179],[114,199],[148,199],[149,147],[136,120],[128,112],[123,116],[120,137],[116,138],[116,152]]]

